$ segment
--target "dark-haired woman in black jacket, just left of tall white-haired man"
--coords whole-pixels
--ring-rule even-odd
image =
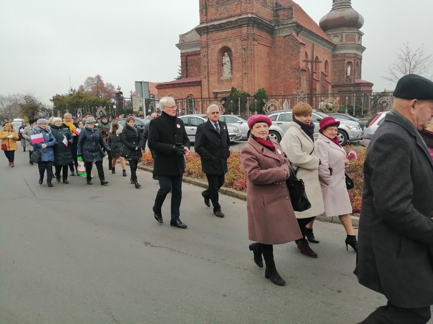
[[[137,181],[137,164],[138,159],[141,158],[141,133],[140,130],[135,126],[135,118],[128,117],[127,123],[122,130],[121,139],[123,145],[122,156],[129,161],[131,167],[131,184],[135,185],[135,188],[140,188],[141,185]]]

